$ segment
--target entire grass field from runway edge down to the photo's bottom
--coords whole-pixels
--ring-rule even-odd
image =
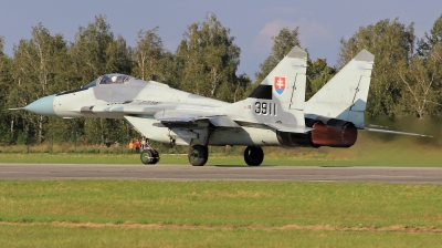
[[[0,180],[0,244],[438,247],[440,209],[442,185]]]

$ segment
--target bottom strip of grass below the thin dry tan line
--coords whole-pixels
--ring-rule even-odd
[[[0,225],[6,247],[440,247],[440,234]]]

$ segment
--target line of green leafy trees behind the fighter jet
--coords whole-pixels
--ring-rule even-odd
[[[139,31],[131,48],[122,35],[113,33],[104,16],[80,27],[74,41],[66,41],[61,33],[51,34],[38,23],[30,39],[14,44],[12,56],[3,53],[4,39],[0,35],[0,107],[25,106],[110,72],[143,80],[156,75],[156,81],[175,89],[236,102],[245,99],[294,45],[308,48],[299,42],[299,27],[282,29],[272,38],[270,55],[252,81],[248,74],[236,74],[241,49],[214,13],[189,24],[175,52],[164,46],[158,29]],[[360,27],[352,37],[340,40],[336,68],[326,59],[308,60],[306,99],[362,49],[376,55],[367,115],[441,115],[442,14],[422,38],[415,37],[413,23],[398,19]],[[136,135],[122,120],[61,120],[25,111],[1,111],[0,120],[0,134],[8,134],[3,138],[10,143],[23,141],[30,133],[36,137],[35,143],[55,132],[66,136],[75,132],[84,143]]]

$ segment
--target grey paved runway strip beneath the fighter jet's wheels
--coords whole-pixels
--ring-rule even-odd
[[[0,164],[0,179],[280,180],[442,184],[442,168]]]

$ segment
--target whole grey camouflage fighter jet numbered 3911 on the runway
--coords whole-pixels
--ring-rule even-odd
[[[274,68],[252,94],[227,103],[130,75],[105,74],[86,86],[36,100],[24,110],[59,117],[125,118],[144,136],[188,145],[191,165],[202,166],[208,145],[242,145],[244,161],[257,166],[261,146],[350,147],[364,124],[375,56],[362,50],[305,102],[307,53],[298,46]],[[157,151],[141,151],[156,164]]]

